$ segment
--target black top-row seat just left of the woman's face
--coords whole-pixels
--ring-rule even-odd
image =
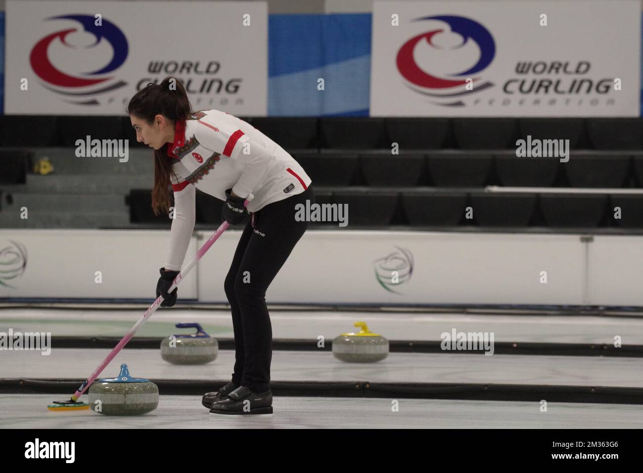
[[[127,117],[127,122],[132,127],[129,117]],[[87,135],[90,140],[124,140],[126,138],[123,131],[123,117],[117,115],[59,116],[58,131],[62,146],[75,146],[76,140],[85,141]],[[132,131],[134,131],[133,128]],[[136,141],[136,131],[134,131],[134,141]],[[131,144],[130,140],[128,145]]]

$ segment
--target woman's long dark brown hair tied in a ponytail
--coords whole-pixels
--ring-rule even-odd
[[[170,80],[174,79],[176,90],[170,89]],[[177,120],[185,120],[192,113],[190,100],[183,88],[183,84],[175,77],[167,77],[160,84],[154,85],[151,82],[144,89],[141,89],[131,98],[127,105],[129,115],[138,116],[147,122],[154,123],[156,115],[163,115],[176,124]],[[154,150],[154,189],[152,189],[152,210],[154,215],[170,211],[170,172],[172,162],[167,155],[165,143],[160,149]]]

